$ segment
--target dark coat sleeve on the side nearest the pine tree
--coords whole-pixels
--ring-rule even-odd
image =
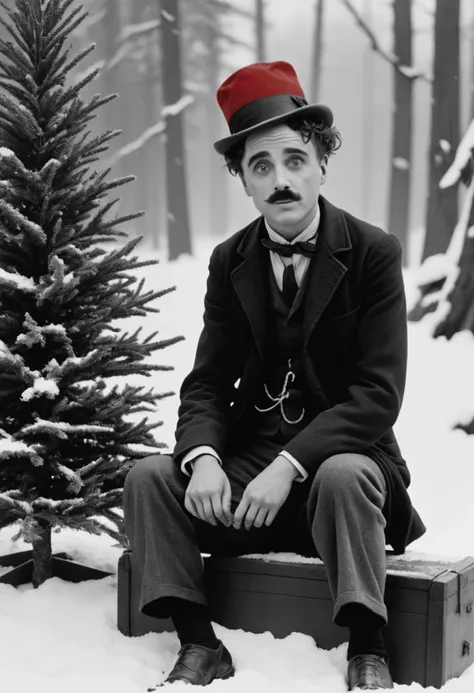
[[[180,390],[174,459],[181,462],[194,447],[207,445],[222,457],[227,436],[230,404],[234,398],[231,324],[225,267],[219,246],[209,262],[204,298],[204,328],[194,366]]]

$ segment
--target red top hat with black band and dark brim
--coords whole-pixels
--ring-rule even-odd
[[[224,154],[230,146],[256,130],[283,123],[297,115],[323,120],[331,127],[331,109],[308,105],[294,68],[282,60],[246,65],[221,84],[217,101],[231,135],[214,143]]]

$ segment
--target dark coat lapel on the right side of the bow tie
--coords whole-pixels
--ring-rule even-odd
[[[304,349],[324,309],[341,283],[347,267],[337,257],[352,248],[349,231],[340,209],[319,196],[321,220],[316,252],[308,268],[304,303]]]

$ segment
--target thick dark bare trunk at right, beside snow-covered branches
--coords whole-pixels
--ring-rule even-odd
[[[437,0],[429,152],[429,194],[423,260],[444,253],[457,222],[457,190],[439,182],[459,143],[459,0]]]

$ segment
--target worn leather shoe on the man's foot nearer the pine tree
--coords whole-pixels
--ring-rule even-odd
[[[234,673],[230,652],[220,640],[216,650],[203,645],[183,645],[176,664],[161,686],[176,681],[207,686],[214,679],[229,679]]]

